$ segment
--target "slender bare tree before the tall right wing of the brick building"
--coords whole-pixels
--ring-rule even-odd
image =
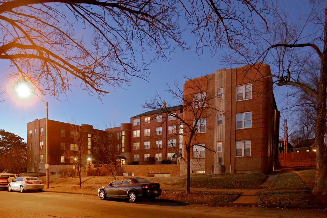
[[[177,81],[173,86],[167,84],[168,89],[166,92],[168,92],[173,99],[177,100],[178,103],[182,105],[182,115],[169,111],[168,104],[168,107],[163,108],[162,105],[164,101],[160,93],[157,93],[153,98],[146,101],[146,103],[142,105],[142,107],[145,109],[161,109],[163,113],[176,117],[178,124],[178,130],[176,132],[183,135],[183,146],[185,148],[186,157],[184,155],[180,155],[178,146],[173,147],[180,158],[186,163],[187,193],[190,193],[190,157],[193,147],[196,148],[197,158],[202,157],[201,151],[205,149],[215,152],[209,147],[202,145],[203,141],[201,140],[203,139],[199,139],[197,135],[197,132],[199,132],[201,128],[207,128],[205,120],[208,118],[214,119],[213,116],[215,115],[215,111],[217,111],[214,103],[218,93],[215,90],[212,90],[210,87],[212,85],[211,76],[212,75],[205,75],[195,79],[188,79],[185,77],[188,79],[188,81],[184,85],[183,89],[178,86]]]

